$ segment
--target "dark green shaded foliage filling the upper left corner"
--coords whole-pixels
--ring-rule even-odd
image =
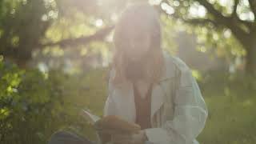
[[[54,13],[54,6],[47,1],[0,1],[0,53],[17,63],[32,58],[31,51],[53,19],[46,18],[49,13]]]

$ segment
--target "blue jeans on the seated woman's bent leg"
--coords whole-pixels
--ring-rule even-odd
[[[51,135],[48,144],[97,144],[69,131],[58,131]],[[145,142],[145,144],[153,144]]]

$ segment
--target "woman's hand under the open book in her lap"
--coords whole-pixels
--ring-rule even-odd
[[[111,138],[114,144],[144,144],[147,140],[144,130],[137,134],[113,134]]]

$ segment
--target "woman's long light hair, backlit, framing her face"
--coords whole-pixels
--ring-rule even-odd
[[[127,59],[124,57],[124,49],[129,49],[127,41],[133,33],[150,34],[150,51],[143,66],[148,82],[158,82],[164,68],[162,55],[162,32],[159,15],[153,6],[146,3],[136,3],[129,6],[119,18],[114,30],[114,57],[112,68],[115,70],[112,83],[118,85],[127,80],[125,66]]]

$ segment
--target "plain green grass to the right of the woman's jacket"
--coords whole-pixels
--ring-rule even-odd
[[[202,144],[254,144],[256,143],[256,93],[237,90],[207,93],[209,117],[205,129],[198,136]]]

